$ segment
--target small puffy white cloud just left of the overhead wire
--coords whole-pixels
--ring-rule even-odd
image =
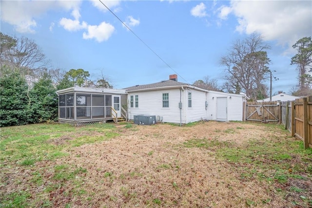
[[[110,23],[102,22],[99,25],[88,25],[88,32],[84,32],[83,39],[95,39],[97,42],[107,41],[115,31]]]

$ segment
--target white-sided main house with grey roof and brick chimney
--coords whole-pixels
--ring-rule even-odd
[[[177,82],[177,75],[158,83],[124,88],[128,93],[128,117],[156,115],[162,122],[200,120],[242,121],[245,95],[202,89]]]

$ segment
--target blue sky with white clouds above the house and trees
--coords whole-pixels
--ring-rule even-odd
[[[256,32],[272,46],[273,93],[297,83],[292,45],[312,35],[312,1],[102,0],[178,75],[224,80],[219,61],[231,44]],[[2,33],[34,40],[51,67],[101,73],[114,88],[174,74],[98,0],[1,0]],[[267,82],[269,84],[269,81]]]

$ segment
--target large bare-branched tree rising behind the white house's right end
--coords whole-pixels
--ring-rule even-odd
[[[266,95],[264,81],[270,72],[268,64],[271,62],[266,50],[270,49],[261,36],[252,34],[243,41],[236,41],[229,53],[221,58],[220,64],[225,66],[225,89],[237,89],[256,100],[259,94]]]

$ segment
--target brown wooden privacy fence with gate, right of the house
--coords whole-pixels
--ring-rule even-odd
[[[283,124],[304,142],[304,148],[312,147],[312,96],[281,103],[247,102],[244,121]]]

